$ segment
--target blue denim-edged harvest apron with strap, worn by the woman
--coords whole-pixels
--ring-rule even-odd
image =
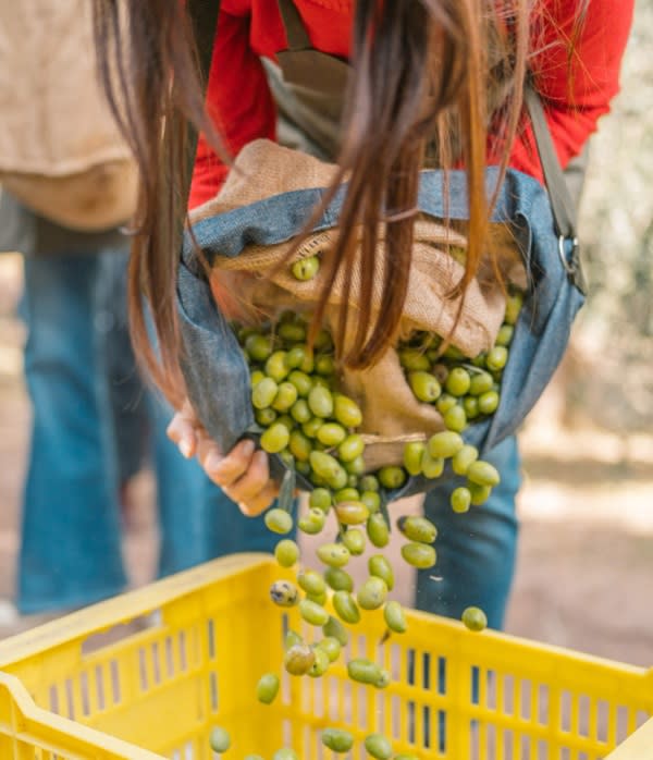
[[[291,123],[291,132],[294,127],[295,134],[308,135],[318,156],[332,157],[338,145],[342,94],[349,66],[346,61],[312,48],[291,0],[280,0],[280,10],[288,48],[278,53],[279,66],[267,64],[272,93],[281,117]],[[529,284],[503,373],[498,408],[492,417],[473,422],[464,432],[466,441],[478,446],[481,454],[514,433],[533,407],[562,359],[571,323],[584,301],[572,203],[537,96],[534,101],[527,95],[546,183],[550,191],[553,185],[555,194],[547,195],[537,180],[515,170],[507,171],[498,188],[492,221],[512,229]],[[448,183],[443,180],[441,170],[421,173],[419,210],[439,219],[467,220],[465,172],[449,171]],[[497,181],[497,169],[488,168],[489,195]],[[286,242],[304,231],[325,189],[284,193],[204,219],[193,228],[195,241],[209,263],[218,254],[238,256],[248,245]],[[345,192],[346,186],[338,189],[313,224],[313,232],[337,226]],[[557,200],[554,207],[552,198]],[[177,309],[188,396],[209,434],[223,451],[243,437],[256,439],[247,363],[213,301],[187,233],[178,271]],[[281,476],[284,467],[278,456],[271,457],[274,476]],[[427,491],[439,482],[411,477],[401,490],[386,495],[394,500]]]

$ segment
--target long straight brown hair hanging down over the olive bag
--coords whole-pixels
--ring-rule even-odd
[[[521,110],[527,4],[528,0],[355,2],[341,173],[332,188],[346,175],[348,191],[315,322],[322,316],[337,272],[360,256],[357,329],[343,356],[350,367],[370,366],[395,338],[408,286],[419,169],[433,135],[439,138],[440,163],[446,169],[459,162],[469,180],[467,262],[457,294],[465,292],[478,269],[492,203],[483,180],[486,93],[498,58],[510,68],[513,82],[510,98],[498,112],[501,123],[495,119],[492,124],[504,145],[503,172]],[[186,122],[207,135],[223,160],[230,157],[206,115],[185,3],[133,1],[127,17],[121,15],[119,0],[94,0],[94,7],[102,79],[141,176],[130,266],[133,340],[155,381],[178,403],[183,383],[175,310],[180,244],[175,230],[186,209],[175,187],[185,170]],[[494,50],[498,54],[489,56],[491,45],[498,46]],[[164,124],[178,128],[163,130]],[[379,244],[381,224],[385,230]],[[378,271],[384,273],[381,303],[372,311],[370,296]],[[148,340],[143,295],[151,308],[158,357]],[[341,339],[350,322],[345,297]]]

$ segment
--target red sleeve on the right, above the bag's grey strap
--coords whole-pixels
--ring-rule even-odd
[[[578,5],[578,0],[546,0],[532,24],[534,53],[529,68],[563,167],[581,152],[619,91],[633,12],[633,0],[590,0],[569,62]],[[529,124],[514,145],[510,166],[541,181],[534,145]]]

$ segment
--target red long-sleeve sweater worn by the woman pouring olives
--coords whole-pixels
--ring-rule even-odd
[[[355,0],[294,0],[315,48],[347,58]],[[568,40],[580,0],[542,0],[531,23],[535,77],[563,167],[577,156],[619,89],[619,66],[634,0],[590,0],[576,40],[571,87]],[[260,57],[286,46],[275,0],[223,0],[207,94],[208,109],[236,155],[259,137],[274,139],[275,109]],[[510,166],[542,179],[529,127],[515,142]],[[200,137],[190,207],[212,198],[227,168]]]

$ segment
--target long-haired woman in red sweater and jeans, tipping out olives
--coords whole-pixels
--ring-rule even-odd
[[[120,27],[118,14],[111,13],[113,5],[111,0],[96,0],[100,11],[97,38],[104,50],[106,33]],[[134,97],[126,101],[128,117],[123,121],[145,180],[140,235],[132,267],[133,328],[137,346],[173,403],[180,407],[184,396],[173,308],[175,209],[158,169],[170,156],[181,158],[182,152],[178,146],[176,154],[175,146],[165,152],[165,146],[151,139],[167,115],[178,109],[205,134],[190,193],[190,207],[195,207],[220,188],[229,171],[229,156],[255,138],[275,137],[272,91],[276,95],[279,77],[274,68],[270,74],[263,61],[278,61],[283,68],[284,51],[295,47],[291,37],[297,35],[298,24],[305,30],[304,48],[349,62],[336,140],[340,147],[329,140],[321,146],[326,154],[330,148],[335,150],[342,169],[338,180],[344,173],[349,175],[340,242],[328,261],[331,278],[322,296],[325,299],[329,282],[354,255],[354,230],[362,223],[361,248],[369,266],[361,284],[356,340],[341,358],[350,367],[364,368],[392,341],[404,304],[419,169],[429,159],[445,168],[463,166],[468,174],[469,249],[460,283],[465,289],[478,268],[486,229],[489,208],[482,183],[486,163],[498,163],[502,169],[509,166],[542,179],[532,132],[521,109],[527,72],[544,100],[564,167],[581,152],[618,90],[631,13],[631,0],[618,4],[614,0],[282,0],[279,4],[275,0],[224,0],[208,83],[207,118],[193,77],[183,9],[176,0],[132,3],[132,63],[150,63],[131,70]],[[174,85],[168,87],[171,72]],[[281,78],[283,84],[283,73]],[[113,96],[115,99],[115,91]],[[299,120],[300,127],[307,123]],[[392,212],[387,224],[392,234],[378,253],[377,229],[384,219],[383,209]],[[392,278],[383,283],[382,319],[369,311],[366,298],[378,256],[393,265],[385,268]],[[160,364],[146,347],[141,287],[149,295],[156,293],[150,301]],[[320,308],[316,319],[319,317]],[[340,317],[342,333],[350,315],[343,308]],[[250,442],[224,455],[208,440],[188,405],[175,416],[170,436],[185,455],[197,454],[209,477],[244,512],[257,514],[273,499],[275,486],[269,479],[267,456]],[[477,511],[473,519],[480,520],[478,525],[466,516],[465,535],[453,524],[442,530],[443,520],[451,520],[452,515],[443,513],[438,492],[427,498],[426,510],[439,514],[442,575],[456,580],[451,592],[439,592],[445,599],[429,606],[458,614],[464,601],[471,603],[455,599],[457,590],[465,589],[469,599],[483,597],[490,623],[498,627],[512,577],[514,497],[519,477],[513,440],[494,454],[504,492],[496,494],[496,504],[484,507],[482,515]],[[473,547],[479,555],[471,573],[458,566],[468,532],[476,534]],[[449,538],[443,546],[445,536]]]

